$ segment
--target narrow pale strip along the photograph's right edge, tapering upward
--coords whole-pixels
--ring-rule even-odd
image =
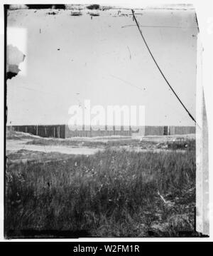
[[[196,118],[196,230],[209,235],[209,148],[208,125],[202,86],[202,42],[197,40],[197,98]]]

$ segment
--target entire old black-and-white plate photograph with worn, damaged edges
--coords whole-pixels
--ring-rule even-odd
[[[5,237],[208,236],[194,6],[4,15]]]

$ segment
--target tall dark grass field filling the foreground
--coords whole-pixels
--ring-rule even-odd
[[[9,159],[6,236],[29,230],[69,237],[195,235],[195,150],[184,148],[185,153],[107,148],[42,163]]]

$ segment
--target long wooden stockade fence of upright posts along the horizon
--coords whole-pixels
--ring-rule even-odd
[[[107,126],[97,127],[95,129],[82,126],[82,130],[70,129],[67,125],[54,126],[7,126],[7,130],[15,130],[23,133],[31,133],[44,138],[72,138],[72,137],[99,137],[99,136],[132,136],[137,135],[139,128]],[[143,126],[141,135],[181,135],[195,133],[195,126]]]

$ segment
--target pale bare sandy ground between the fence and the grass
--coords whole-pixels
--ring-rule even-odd
[[[7,134],[6,138],[6,153],[15,153],[18,150],[30,150],[30,151],[38,151],[43,153],[62,153],[68,155],[92,155],[97,153],[99,150],[104,150],[103,147],[97,148],[89,148],[86,146],[70,146],[70,145],[34,145],[34,144],[27,144],[29,141],[34,139],[40,139],[39,136],[31,135],[30,133],[19,133],[19,132],[12,132]],[[185,139],[185,138],[195,138],[195,134],[189,135],[173,135],[173,136],[146,136],[146,137],[121,137],[121,136],[112,136],[112,137],[94,137],[94,138],[67,138],[67,139],[55,139],[55,140],[78,140],[78,141],[100,141],[107,143],[109,140],[121,141],[121,140],[138,140],[138,142],[155,142],[155,143],[163,143],[166,141],[172,141],[176,139]],[[45,140],[50,140],[53,138],[42,138]],[[140,146],[131,147],[130,145],[123,145],[123,146],[113,146],[111,147],[114,150],[130,150],[135,152],[147,152],[152,151],[159,153],[163,148],[141,148]],[[170,151],[167,149],[167,151]],[[180,152],[185,152],[185,150],[179,150]]]

